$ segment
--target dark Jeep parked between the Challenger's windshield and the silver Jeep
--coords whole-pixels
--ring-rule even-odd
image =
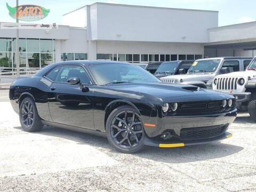
[[[156,70],[155,77],[161,78],[168,75],[186,74],[194,60],[180,60],[163,62]]]

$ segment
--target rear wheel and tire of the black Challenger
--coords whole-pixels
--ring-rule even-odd
[[[24,131],[36,132],[41,131],[43,124],[39,117],[35,105],[35,101],[30,97],[26,97],[20,103],[20,124]]]

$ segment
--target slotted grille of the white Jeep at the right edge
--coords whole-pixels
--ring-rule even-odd
[[[237,77],[220,77],[217,78],[217,90],[219,91],[233,91],[237,90]]]

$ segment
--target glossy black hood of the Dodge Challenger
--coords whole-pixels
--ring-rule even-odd
[[[194,95],[218,95],[219,92],[199,89],[196,86],[167,83],[122,83],[107,85],[111,90],[139,95],[151,95],[160,99]]]

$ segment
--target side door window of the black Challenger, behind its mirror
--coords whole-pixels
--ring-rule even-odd
[[[78,77],[82,84],[91,84],[85,70],[79,66],[62,66],[55,82],[66,83],[70,77]]]

